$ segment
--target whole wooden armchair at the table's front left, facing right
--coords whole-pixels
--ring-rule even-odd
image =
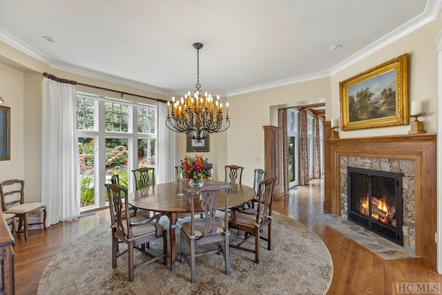
[[[160,259],[163,259],[163,264],[167,265],[167,230],[160,225],[160,218],[165,214],[161,213],[140,222],[132,222],[130,214],[124,214],[129,210],[127,189],[118,187],[116,184],[105,184],[105,186],[109,196],[109,211],[111,211],[112,268],[117,267],[119,256],[128,253],[128,280],[133,282],[136,267]],[[146,243],[157,238],[163,240],[163,251],[162,254],[154,256],[146,251]],[[119,242],[126,243],[127,249],[119,251]],[[134,265],[133,249],[146,254],[149,259]]]

